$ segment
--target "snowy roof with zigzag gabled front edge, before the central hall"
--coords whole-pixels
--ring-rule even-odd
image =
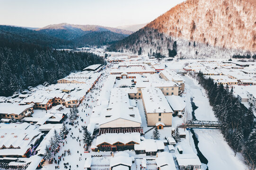
[[[138,132],[134,133],[119,133],[119,134],[111,134],[106,133],[100,136],[97,136],[96,145],[102,144],[104,142],[108,144],[115,144],[116,142],[121,142],[123,144],[127,144],[131,141],[140,144],[141,143],[141,134]]]

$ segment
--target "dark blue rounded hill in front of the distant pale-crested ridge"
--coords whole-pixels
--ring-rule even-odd
[[[122,40],[128,35],[118,34],[111,31],[102,31],[102,32],[91,32],[77,38],[72,39],[74,43],[79,46],[85,45],[106,45],[113,43],[118,40]]]

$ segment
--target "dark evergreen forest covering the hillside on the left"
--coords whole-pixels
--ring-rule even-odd
[[[88,52],[60,51],[67,41],[18,28],[0,26],[0,95],[56,81],[105,60]]]

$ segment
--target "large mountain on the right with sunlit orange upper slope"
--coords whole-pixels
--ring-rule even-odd
[[[255,0],[187,0],[108,50],[179,58],[252,55],[255,14]]]

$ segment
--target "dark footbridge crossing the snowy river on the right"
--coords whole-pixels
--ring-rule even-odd
[[[209,128],[209,129],[221,129],[223,126],[222,121],[212,120],[187,120],[186,123],[179,125],[183,128]]]

